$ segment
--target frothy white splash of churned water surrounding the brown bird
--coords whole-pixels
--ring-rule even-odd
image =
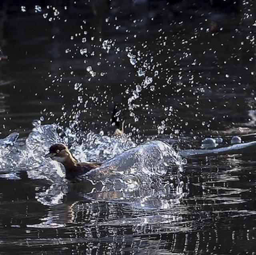
[[[180,183],[183,162],[165,142],[151,141],[137,146],[126,136],[110,137],[94,132],[74,134],[69,128],[39,124],[25,140],[19,140],[14,133],[1,142],[2,178],[18,178],[18,172],[23,170],[30,179],[51,183],[36,193],[36,199],[48,206],[61,204],[70,190],[62,166],[44,158],[56,142],[70,145],[78,160],[105,162],[97,171],[85,176],[87,181],[81,182],[84,188],[78,193],[83,199],[132,202],[138,207],[151,208],[164,206],[171,198],[176,200],[176,193],[180,196],[175,188]],[[174,168],[176,180],[168,184],[162,176]],[[111,170],[107,176],[104,175],[106,170]]]

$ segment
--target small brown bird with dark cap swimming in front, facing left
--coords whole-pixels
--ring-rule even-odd
[[[78,162],[68,150],[68,147],[62,143],[50,146],[49,153],[45,157],[62,163],[68,180],[74,180],[78,176],[102,165],[100,162]]]

